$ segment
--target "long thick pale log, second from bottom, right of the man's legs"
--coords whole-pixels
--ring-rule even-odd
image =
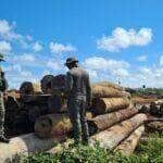
[[[111,128],[103,130],[90,139],[90,145],[93,146],[99,141],[100,146],[105,149],[116,148],[125,140],[136,128],[143,124],[147,120],[146,114],[137,114],[134,117],[126,120]]]

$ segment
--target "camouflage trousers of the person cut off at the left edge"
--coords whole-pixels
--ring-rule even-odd
[[[4,101],[3,93],[0,91],[0,136],[4,135]]]

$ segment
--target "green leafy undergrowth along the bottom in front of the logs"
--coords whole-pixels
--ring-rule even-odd
[[[99,143],[95,147],[71,145],[63,147],[61,153],[37,153],[21,156],[21,163],[163,163],[163,141],[156,140],[162,135],[154,135],[148,143],[139,145],[137,153],[124,155],[113,150],[104,150]]]

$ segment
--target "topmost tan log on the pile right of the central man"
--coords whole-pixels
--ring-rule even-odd
[[[91,89],[93,98],[117,98],[123,97],[125,95],[123,91],[120,91],[118,89],[100,85],[93,85]]]

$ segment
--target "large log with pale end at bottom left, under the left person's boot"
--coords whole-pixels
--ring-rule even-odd
[[[12,138],[10,143],[0,143],[0,162],[18,162],[17,154],[30,155],[36,152],[48,150],[53,143],[65,140],[65,135],[54,136],[49,139],[40,139],[36,134],[28,134]]]

